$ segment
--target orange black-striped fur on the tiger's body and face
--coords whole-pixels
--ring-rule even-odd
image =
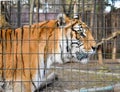
[[[71,20],[66,21],[69,24]],[[74,24],[76,23],[78,22]],[[82,26],[86,28],[85,24]],[[70,27],[63,29],[62,33],[57,27],[57,20],[50,20],[15,30],[0,30],[0,75],[9,81],[22,81],[24,92],[31,92],[31,80],[37,73],[39,58],[43,55],[46,63],[48,53],[58,53],[59,40],[62,40],[62,34],[67,35],[68,30],[71,32]],[[84,48],[89,50],[95,46],[95,41],[89,30],[86,34],[82,38],[72,32],[73,37],[78,36],[84,43]]]

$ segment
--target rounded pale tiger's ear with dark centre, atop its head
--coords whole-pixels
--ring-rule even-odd
[[[57,16],[58,26],[65,26],[66,25],[66,15],[65,14],[58,14]]]

